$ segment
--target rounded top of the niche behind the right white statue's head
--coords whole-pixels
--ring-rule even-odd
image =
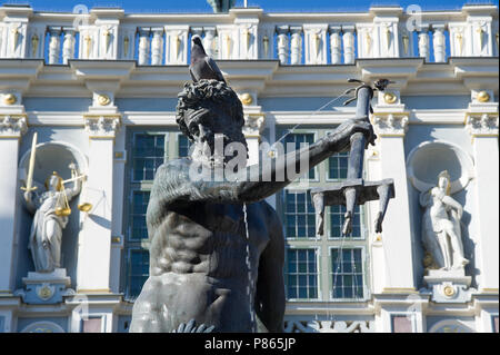
[[[442,170],[450,174],[452,195],[464,189],[473,178],[474,164],[459,146],[442,140],[424,141],[408,155],[408,178],[420,193],[434,187]]]

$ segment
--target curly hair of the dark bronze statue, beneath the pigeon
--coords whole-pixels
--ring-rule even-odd
[[[234,122],[238,124],[238,129],[243,127],[243,106],[241,105],[238,95],[224,82],[213,79],[186,82],[183,90],[178,95],[176,121],[179,125],[180,130],[188,136],[191,141],[194,141],[194,137],[186,125],[186,111],[188,109],[197,109],[199,103],[206,100],[224,105],[229,109]]]

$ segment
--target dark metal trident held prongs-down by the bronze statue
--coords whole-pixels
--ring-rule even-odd
[[[358,79],[349,79],[348,81],[358,82],[360,86],[348,89],[344,92],[344,95],[347,95],[356,90],[354,97],[343,102],[343,105],[358,100],[356,107],[356,120],[370,122],[368,117],[370,112],[373,112],[370,103],[373,91],[383,91],[389,83],[392,83],[392,81],[379,79],[373,82],[374,88]],[[318,235],[323,235],[326,206],[346,206],[347,211],[342,226],[342,236],[347,236],[352,233],[354,206],[363,205],[366,201],[370,200],[379,200],[380,209],[376,218],[376,231],[382,231],[382,220],[386,215],[389,199],[394,197],[394,183],[392,179],[383,179],[381,181],[364,181],[362,179],[363,156],[367,147],[368,144],[363,134],[356,132],[352,135],[347,179],[342,183],[332,184],[328,188],[311,189],[311,198],[316,209]]]

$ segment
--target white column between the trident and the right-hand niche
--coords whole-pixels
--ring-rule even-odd
[[[413,279],[412,228],[404,161],[404,134],[408,112],[373,114],[373,126],[380,150],[380,174],[394,180],[396,197],[390,200],[380,240],[383,248],[384,270],[382,289],[376,293],[411,294],[416,292]],[[376,270],[374,270],[376,273]],[[374,274],[376,275],[376,274]]]

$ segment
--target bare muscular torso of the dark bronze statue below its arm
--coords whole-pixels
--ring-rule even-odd
[[[282,235],[276,235],[281,224],[266,201],[249,204],[247,215],[248,237],[241,204],[168,204],[161,221],[149,228],[150,277],[130,331],[171,332],[196,319],[216,332],[251,332],[248,292],[256,290],[262,250]]]

